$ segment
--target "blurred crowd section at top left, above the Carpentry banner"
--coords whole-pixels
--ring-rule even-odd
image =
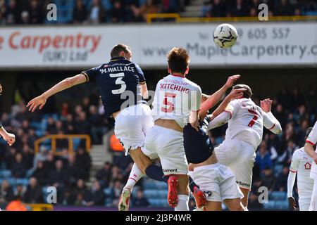
[[[57,9],[66,9],[71,14],[66,23],[96,24],[144,22],[147,13],[179,13],[189,0],[0,0],[0,24],[45,23],[46,6],[51,2]],[[58,16],[64,15],[58,13]]]

